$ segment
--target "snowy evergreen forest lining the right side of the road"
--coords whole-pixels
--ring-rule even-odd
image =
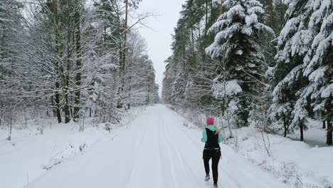
[[[164,103],[300,140],[317,120],[332,145],[332,0],[188,0],[172,50]]]

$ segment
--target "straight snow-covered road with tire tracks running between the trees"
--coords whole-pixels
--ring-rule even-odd
[[[203,181],[201,130],[189,130],[183,121],[164,105],[151,106],[117,137],[100,140],[85,155],[53,167],[27,187],[213,187]],[[230,147],[221,147],[219,187],[287,187]]]

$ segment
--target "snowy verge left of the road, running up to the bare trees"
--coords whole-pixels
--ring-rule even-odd
[[[111,139],[126,129],[143,110],[133,108],[119,125],[103,123],[96,126],[93,118],[86,118],[83,132],[78,131],[80,123],[29,120],[27,129],[13,130],[11,141],[6,140],[8,129],[0,127],[0,187],[21,188],[57,164],[80,157],[103,138]],[[106,130],[106,127],[110,129]]]

